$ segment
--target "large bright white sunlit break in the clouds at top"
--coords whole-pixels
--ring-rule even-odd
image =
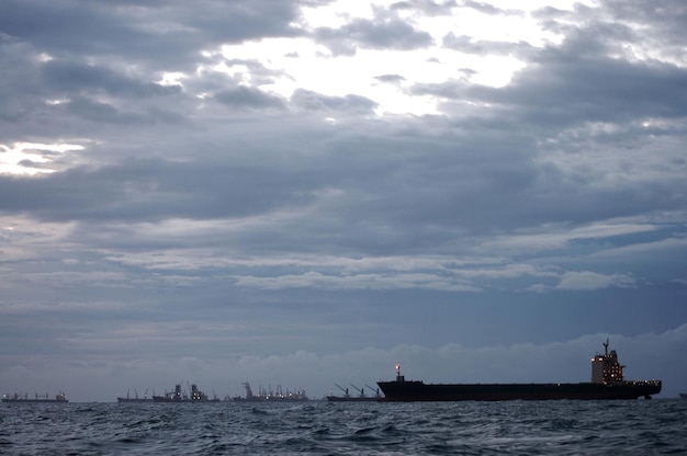
[[[351,19],[371,19],[374,5],[388,2],[361,4],[353,9],[350,2],[336,2],[327,7],[303,8],[302,26],[337,27]],[[214,70],[239,77],[241,82],[290,98],[296,89],[305,89],[330,96],[351,93],[369,98],[379,105],[378,114],[437,114],[437,100],[432,96],[412,95],[404,90],[413,83],[440,83],[460,79],[462,69],[470,68],[470,81],[487,87],[503,87],[526,64],[514,56],[471,55],[441,45],[442,38],[452,31],[470,34],[472,39],[493,42],[527,42],[541,46],[555,41],[551,33],[541,31],[528,16],[487,16],[470,8],[455,9],[450,16],[408,16],[433,39],[429,47],[416,50],[374,49],[358,47],[353,56],[333,56],[322,44],[308,38],[263,38],[225,45],[222,55],[227,60],[258,61],[274,75],[272,82],[254,82],[250,70],[241,65],[219,65]],[[460,10],[460,11],[458,11]],[[403,15],[403,11],[399,15]],[[502,21],[503,24],[494,21]],[[375,78],[396,75],[405,80],[398,87],[380,83]]]

